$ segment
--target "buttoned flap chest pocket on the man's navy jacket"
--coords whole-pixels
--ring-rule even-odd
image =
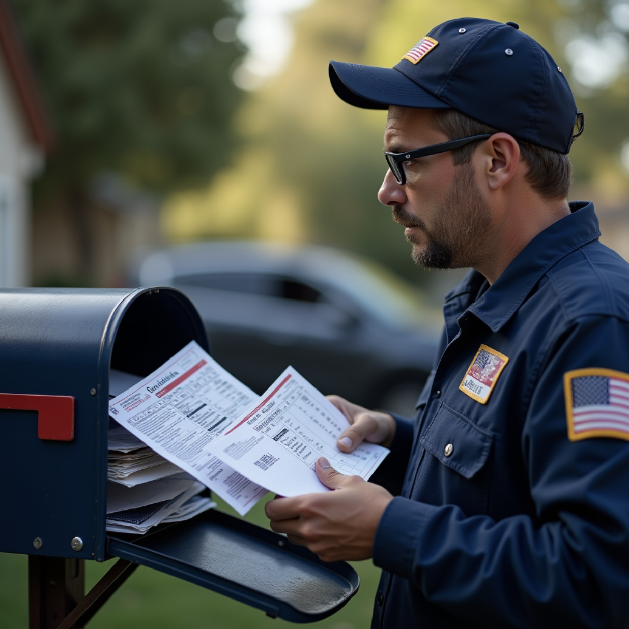
[[[420,440],[432,456],[423,457],[412,498],[456,504],[467,516],[487,513],[493,438],[442,403]]]

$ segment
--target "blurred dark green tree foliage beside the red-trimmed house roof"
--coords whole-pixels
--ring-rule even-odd
[[[222,0],[13,0],[57,145],[44,184],[110,170],[166,191],[207,181],[233,143],[242,54],[213,36]]]

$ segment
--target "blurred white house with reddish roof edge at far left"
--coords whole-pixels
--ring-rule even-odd
[[[30,283],[29,182],[52,132],[6,0],[0,0],[0,286]]]

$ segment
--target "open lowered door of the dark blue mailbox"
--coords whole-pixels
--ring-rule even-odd
[[[358,590],[358,575],[348,564],[326,564],[285,537],[220,511],[205,511],[133,542],[122,537],[129,536],[109,540],[116,557],[295,623],[326,618]]]

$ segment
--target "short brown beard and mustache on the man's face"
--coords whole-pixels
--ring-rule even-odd
[[[393,208],[394,220],[424,231],[426,242],[411,236],[411,257],[425,269],[462,269],[473,267],[489,242],[491,215],[482,198],[471,164],[456,167],[456,174],[443,204],[434,214],[434,226],[428,231],[424,221],[409,214],[402,206]]]

